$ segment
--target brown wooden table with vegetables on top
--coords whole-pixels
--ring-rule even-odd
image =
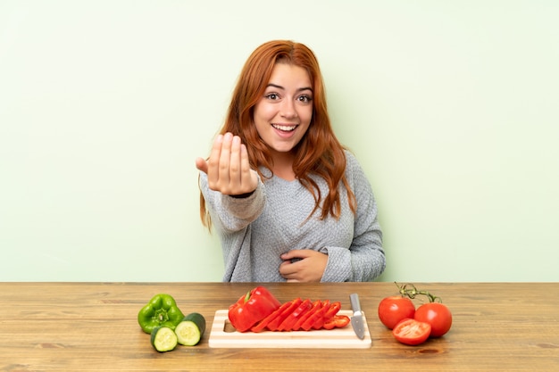
[[[416,284],[443,298],[448,334],[419,346],[397,343],[380,324],[393,283],[266,284],[282,302],[330,299],[349,310],[359,293],[370,349],[215,349],[209,333],[194,347],[158,353],[138,326],[138,310],[170,293],[183,312],[212,326],[256,284],[0,283],[2,371],[557,371],[559,283]]]

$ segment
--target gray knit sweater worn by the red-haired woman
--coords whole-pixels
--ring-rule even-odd
[[[280,254],[313,249],[328,254],[322,282],[371,281],[385,269],[382,233],[371,185],[352,153],[346,152],[346,178],[355,193],[357,212],[350,210],[340,187],[341,216],[319,219],[313,195],[298,180],[260,179],[253,194],[234,198],[210,190],[200,172],[200,188],[213,227],[221,239],[224,282],[283,282]],[[263,169],[267,170],[267,169]],[[268,170],[269,172],[269,170]],[[264,173],[266,174],[266,173]],[[313,178],[328,194],[322,178]]]

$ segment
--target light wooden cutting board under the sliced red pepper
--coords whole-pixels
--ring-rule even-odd
[[[351,317],[350,310],[340,315]],[[365,323],[365,338],[360,340],[351,327],[293,332],[237,332],[229,323],[228,310],[217,310],[210,333],[212,348],[311,348],[311,349],[367,349],[371,347],[371,334]]]

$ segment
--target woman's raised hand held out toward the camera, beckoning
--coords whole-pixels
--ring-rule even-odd
[[[246,145],[231,133],[217,136],[210,158],[196,158],[196,168],[208,175],[210,189],[221,194],[248,194],[258,186],[258,174],[250,168]]]

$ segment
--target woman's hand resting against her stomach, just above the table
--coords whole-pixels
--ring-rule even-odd
[[[292,262],[293,259],[299,259]],[[320,282],[328,255],[311,249],[296,249],[283,253],[280,265],[280,275],[288,282]]]

